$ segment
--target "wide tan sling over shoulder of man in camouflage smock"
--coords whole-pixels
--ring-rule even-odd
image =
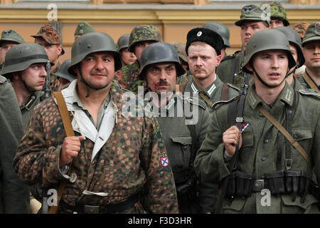
[[[63,120],[63,127],[65,128],[65,134],[67,135],[67,137],[75,136],[75,132],[73,131],[73,126],[71,125],[68,108],[67,108],[67,105],[65,104],[65,99],[63,98],[62,93],[60,91],[53,92],[53,95],[55,95],[55,99],[57,100],[57,103],[58,103],[59,112]],[[72,161],[70,162],[70,167],[71,165],[72,165]],[[63,190],[65,190],[66,184],[67,184],[67,181],[65,180],[58,187],[58,190],[57,190],[58,203],[63,195]],[[58,211],[58,206],[53,205],[49,209],[49,214],[56,214],[57,211]]]

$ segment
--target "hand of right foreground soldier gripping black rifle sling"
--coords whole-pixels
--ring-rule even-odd
[[[232,157],[235,154],[235,146],[240,140],[239,149],[242,145],[242,135],[240,130],[234,125],[223,133],[223,144],[225,145],[225,152]]]

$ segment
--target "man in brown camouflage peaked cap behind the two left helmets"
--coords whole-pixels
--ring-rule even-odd
[[[61,88],[61,86],[55,73],[60,67],[58,58],[65,53],[63,46],[61,46],[60,35],[53,26],[46,24],[45,26],[42,26],[38,33],[32,37],[35,38],[35,43],[40,44],[46,50],[50,63],[54,63],[50,70],[50,87],[51,91],[58,91],[58,88]]]

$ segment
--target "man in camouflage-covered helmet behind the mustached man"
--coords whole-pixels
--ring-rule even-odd
[[[131,65],[124,66],[114,74],[114,80],[119,81],[120,85],[134,93],[138,93],[138,86],[144,86],[144,81],[137,78],[140,69],[140,56],[146,46],[151,43],[162,41],[161,33],[158,28],[152,25],[139,25],[132,29],[129,37],[128,51],[133,52],[137,61]]]

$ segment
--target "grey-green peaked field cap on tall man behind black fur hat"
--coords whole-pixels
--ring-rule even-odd
[[[270,26],[270,17],[268,17],[267,12],[255,5],[243,6],[240,20],[235,21],[235,25],[241,26],[245,21],[265,21],[267,26]]]

